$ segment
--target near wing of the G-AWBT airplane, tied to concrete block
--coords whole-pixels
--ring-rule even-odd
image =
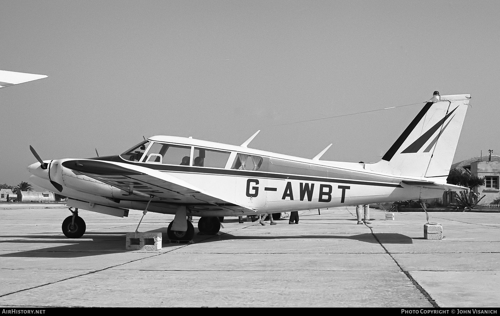
[[[226,201],[170,174],[143,166],[100,160],[67,160],[66,168],[120,188],[144,200],[203,206],[217,206],[234,211],[255,209]],[[125,199],[125,198],[124,198]]]

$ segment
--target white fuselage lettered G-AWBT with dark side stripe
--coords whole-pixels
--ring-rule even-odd
[[[148,140],[150,141],[148,148],[153,143],[159,143],[190,147],[191,152],[195,148],[202,148],[228,154],[224,167],[219,168],[147,162],[144,161],[144,157],[141,161],[132,162],[119,155],[92,158],[92,160],[102,159],[137,170],[153,168],[191,183],[210,195],[247,207],[247,209],[235,211],[210,204],[191,204],[187,207],[189,214],[193,216],[241,216],[424,199],[442,195],[442,188],[408,186],[401,182],[402,180],[420,180],[422,177],[391,176],[371,171],[369,163],[313,160],[187,137],[154,136]],[[147,149],[145,151],[147,152]],[[234,160],[237,154],[262,158],[262,164],[257,170],[236,169]],[[45,161],[48,163],[47,169],[41,169],[38,162],[33,163],[28,167],[33,173],[30,180],[38,186],[57,192],[57,188],[50,181],[56,182],[62,186],[61,195],[76,200],[110,207],[145,208],[147,194],[144,194],[144,191],[147,191],[148,184],[135,183],[136,188],[137,185],[141,186],[141,192],[136,192],[132,188],[130,194],[129,191],[62,166],[63,162],[70,160],[74,159]],[[77,160],[84,161],[84,159]],[[126,178],[116,181],[122,185],[134,185],[133,181]],[[151,194],[154,195],[154,185],[149,188]],[[188,203],[188,201],[180,199],[151,202],[148,210],[174,214],[176,205],[179,203]]]

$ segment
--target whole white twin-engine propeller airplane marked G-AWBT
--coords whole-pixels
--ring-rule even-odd
[[[175,214],[171,240],[187,241],[200,216],[202,233],[219,231],[218,216],[440,197],[470,94],[435,91],[403,133],[375,163],[320,160],[193,139],[152,136],[122,154],[42,161],[28,167],[32,183],[68,197],[73,215],[62,232],[79,238],[85,222],[78,208],[114,216],[129,209]],[[331,145],[331,144],[330,144]],[[71,210],[74,207],[75,210]]]

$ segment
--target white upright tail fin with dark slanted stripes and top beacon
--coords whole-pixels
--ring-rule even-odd
[[[370,169],[422,177],[448,176],[470,94],[434,96],[423,106],[382,160]]]

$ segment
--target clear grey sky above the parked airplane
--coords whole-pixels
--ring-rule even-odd
[[[0,183],[176,135],[375,162],[432,96],[470,93],[454,162],[500,153],[498,1],[2,1]],[[294,124],[283,123],[395,109]],[[275,126],[278,125],[278,126]]]

